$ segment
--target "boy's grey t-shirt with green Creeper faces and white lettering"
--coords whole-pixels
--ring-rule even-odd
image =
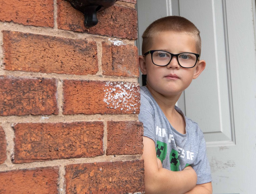
[[[147,87],[141,87],[139,121],[143,123],[144,136],[155,142],[163,168],[181,171],[191,165],[197,173],[197,184],[209,183],[212,179],[203,132],[178,107],[175,106],[175,110],[186,120],[186,134],[171,126]]]

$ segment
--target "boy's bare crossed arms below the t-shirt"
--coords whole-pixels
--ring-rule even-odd
[[[197,174],[192,167],[177,172],[162,168],[161,161],[156,157],[154,141],[143,136],[143,144],[146,194],[212,193],[211,182],[196,185]]]

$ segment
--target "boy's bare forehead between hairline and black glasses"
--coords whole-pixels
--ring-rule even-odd
[[[191,35],[172,31],[156,35],[152,40],[150,50],[166,50],[174,54],[197,52],[196,41]]]

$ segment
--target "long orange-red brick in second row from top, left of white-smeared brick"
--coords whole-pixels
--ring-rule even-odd
[[[76,75],[98,71],[95,41],[4,31],[3,49],[6,70]]]

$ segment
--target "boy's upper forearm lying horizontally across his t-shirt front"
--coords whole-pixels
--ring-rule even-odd
[[[145,175],[145,179],[146,193],[154,194],[183,194],[193,189],[197,182],[196,173],[192,168],[177,172],[159,168],[156,176],[148,178]],[[147,181],[148,179],[150,181]]]

